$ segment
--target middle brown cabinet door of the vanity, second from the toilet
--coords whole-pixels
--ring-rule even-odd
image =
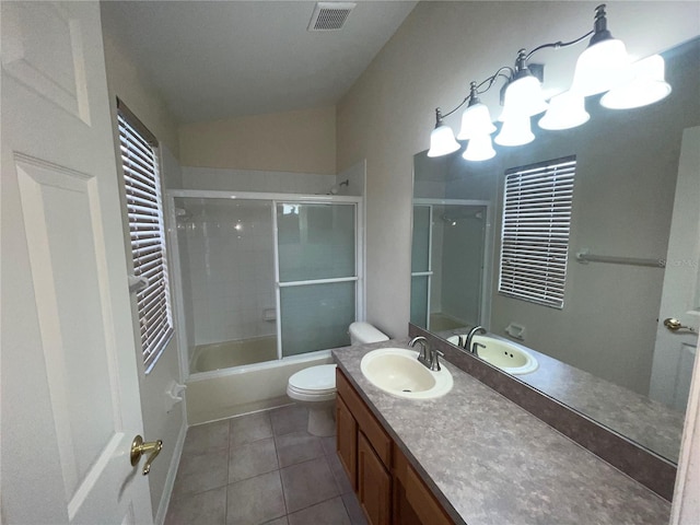
[[[370,525],[389,525],[392,477],[362,432],[358,432],[358,499]]]

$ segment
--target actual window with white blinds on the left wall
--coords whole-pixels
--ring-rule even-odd
[[[148,281],[137,304],[149,373],[173,336],[158,141],[121,102],[117,107],[133,273]]]

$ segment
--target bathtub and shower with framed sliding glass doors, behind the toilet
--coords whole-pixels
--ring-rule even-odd
[[[167,191],[189,423],[289,404],[362,318],[362,199]]]

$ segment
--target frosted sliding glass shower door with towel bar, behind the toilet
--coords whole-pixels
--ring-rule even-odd
[[[282,357],[350,343],[358,276],[354,203],[277,203]]]

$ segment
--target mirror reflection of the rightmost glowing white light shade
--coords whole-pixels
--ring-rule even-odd
[[[666,83],[664,70],[660,55],[634,62],[630,66],[630,81],[603,95],[600,104],[610,109],[631,109],[665,98],[670,85]]]

